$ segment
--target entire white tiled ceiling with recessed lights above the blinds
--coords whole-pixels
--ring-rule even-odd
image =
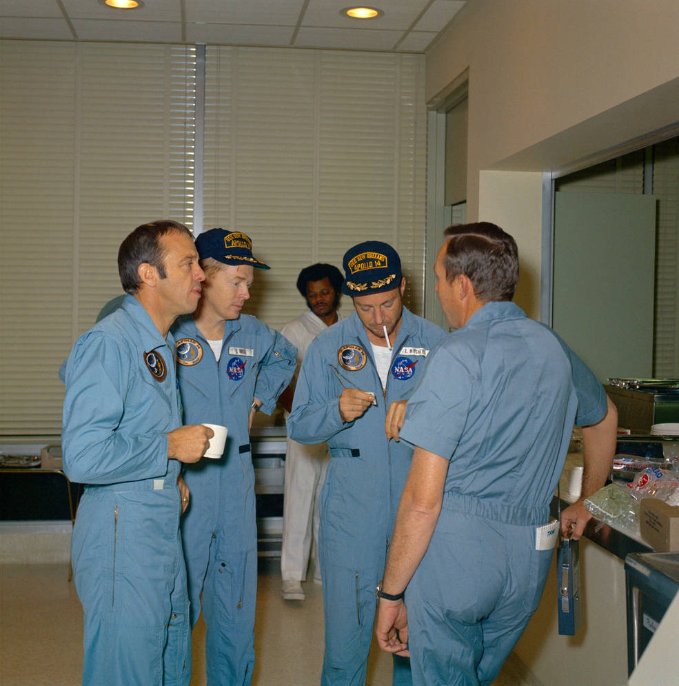
[[[383,16],[341,16],[351,0],[144,0],[136,10],[100,0],[0,0],[0,38],[423,52],[465,0],[366,4]]]

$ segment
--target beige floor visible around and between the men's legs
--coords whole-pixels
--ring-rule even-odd
[[[0,684],[74,686],[82,669],[83,617],[66,564],[0,565]],[[323,662],[321,586],[305,583],[303,603],[283,601],[279,561],[264,561],[256,619],[256,686],[312,686]],[[192,686],[205,684],[201,620],[193,636]],[[521,678],[523,665],[507,660],[494,686],[539,686]],[[373,646],[369,685],[391,683],[391,658]]]

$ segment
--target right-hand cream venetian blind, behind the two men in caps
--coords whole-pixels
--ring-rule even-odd
[[[423,56],[215,47],[205,63],[204,227],[245,232],[272,267],[256,270],[245,311],[280,328],[303,310],[303,267],[341,268],[375,239],[401,254],[420,314]]]

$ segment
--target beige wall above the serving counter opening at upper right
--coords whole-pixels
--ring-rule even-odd
[[[467,221],[499,217],[483,170],[554,170],[679,121],[677,26],[676,0],[467,3],[427,53],[426,90],[469,70]]]

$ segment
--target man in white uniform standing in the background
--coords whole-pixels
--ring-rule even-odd
[[[297,370],[302,365],[307,347],[325,327],[341,319],[337,312],[344,278],[329,264],[305,267],[297,278],[297,290],[309,309],[289,321],[281,334],[297,347]],[[290,412],[297,374],[281,394],[281,404]],[[302,581],[307,578],[310,553],[314,554],[314,580],[321,581],[318,565],[318,496],[327,470],[327,445],[302,445],[287,439],[285,457],[285,499],[283,501],[283,547],[281,576],[283,598],[303,601]],[[312,547],[313,543],[313,547]]]

